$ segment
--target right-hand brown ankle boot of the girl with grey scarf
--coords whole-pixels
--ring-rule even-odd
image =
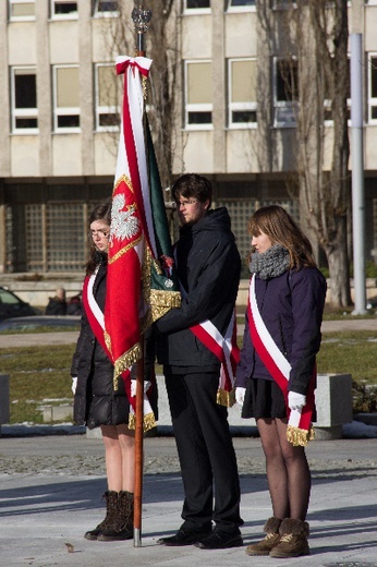
[[[279,529],[280,542],[271,551],[270,557],[300,557],[309,555],[307,538],[309,524],[307,521],[285,518]]]

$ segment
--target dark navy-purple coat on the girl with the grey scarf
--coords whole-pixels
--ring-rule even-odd
[[[292,366],[289,390],[306,395],[321,339],[323,274],[317,268],[302,268],[267,280],[257,276],[255,293],[269,334]],[[254,349],[246,314],[236,386],[246,387],[246,379],[253,377],[273,379]]]

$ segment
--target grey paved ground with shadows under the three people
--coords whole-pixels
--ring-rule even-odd
[[[244,545],[270,515],[259,439],[235,437]],[[86,435],[1,437],[0,565],[2,567],[284,567],[377,566],[377,439],[313,442],[309,557],[251,558],[244,547],[204,551],[158,545],[180,524],[182,483],[172,437],[145,439],[142,544],[88,542],[102,519],[106,490],[100,439]],[[73,546],[69,553],[65,543]]]

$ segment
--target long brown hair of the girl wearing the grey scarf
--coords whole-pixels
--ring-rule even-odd
[[[263,232],[272,244],[283,245],[290,254],[290,268],[316,266],[308,238],[279,205],[258,208],[248,221],[248,232],[254,237]]]

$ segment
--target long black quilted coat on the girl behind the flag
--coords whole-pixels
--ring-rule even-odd
[[[104,312],[107,266],[101,265],[94,285],[94,295]],[[129,423],[130,405],[123,381],[113,390],[113,365],[97,341],[83,310],[81,333],[72,360],[72,376],[77,376],[73,420],[89,429]]]

